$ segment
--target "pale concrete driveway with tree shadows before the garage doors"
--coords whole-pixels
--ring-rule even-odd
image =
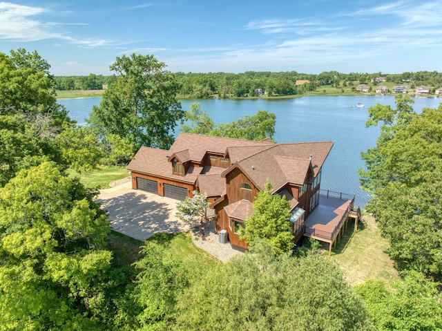
[[[131,182],[100,190],[97,202],[107,209],[115,231],[138,240],[191,229],[175,216],[178,200],[132,189]]]

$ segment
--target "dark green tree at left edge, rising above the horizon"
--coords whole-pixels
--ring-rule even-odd
[[[71,123],[49,68],[37,52],[0,53],[0,187],[20,169],[61,162],[55,139]]]

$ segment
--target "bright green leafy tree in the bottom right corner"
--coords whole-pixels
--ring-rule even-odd
[[[437,284],[410,272],[390,290],[383,281],[366,281],[355,288],[372,315],[376,330],[441,330],[442,301]]]

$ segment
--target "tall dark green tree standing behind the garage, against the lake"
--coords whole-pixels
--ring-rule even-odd
[[[164,67],[152,55],[117,57],[110,67],[117,81],[104,91],[88,122],[103,138],[119,135],[135,149],[142,145],[169,148],[184,112],[176,98],[180,86]]]

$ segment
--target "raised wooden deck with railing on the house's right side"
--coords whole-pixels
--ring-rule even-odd
[[[329,243],[329,254],[331,254],[332,245],[336,245],[336,240],[345,229],[349,217],[356,219],[355,231],[357,229],[360,211],[359,209],[353,211],[353,202],[353,199],[334,198],[321,194],[318,206],[305,220],[304,236]]]

